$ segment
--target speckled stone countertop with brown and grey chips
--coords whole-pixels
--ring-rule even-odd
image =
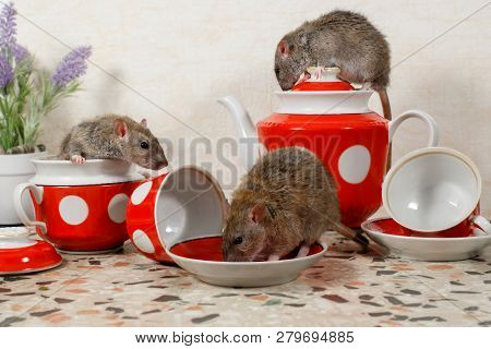
[[[423,263],[332,252],[290,284],[203,284],[131,244],[0,277],[0,326],[490,326],[491,257]],[[338,252],[336,252],[338,251]]]

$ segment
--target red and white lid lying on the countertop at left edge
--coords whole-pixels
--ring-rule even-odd
[[[0,275],[25,274],[51,269],[61,256],[46,241],[28,238],[0,239]]]

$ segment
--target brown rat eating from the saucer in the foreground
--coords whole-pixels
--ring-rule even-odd
[[[263,156],[233,192],[229,208],[223,236],[225,261],[275,261],[298,246],[298,256],[304,256],[327,230],[369,244],[340,222],[334,179],[303,147]]]

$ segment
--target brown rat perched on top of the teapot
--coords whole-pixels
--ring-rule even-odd
[[[282,89],[291,89],[312,65],[338,67],[340,79],[376,91],[385,119],[392,119],[386,92],[391,51],[384,35],[366,16],[337,10],[285,35],[275,53]]]

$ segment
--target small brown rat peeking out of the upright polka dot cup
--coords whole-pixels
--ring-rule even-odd
[[[158,140],[124,116],[107,115],[75,125],[61,144],[61,157],[76,164],[85,159],[122,159],[157,170],[168,165]]]

